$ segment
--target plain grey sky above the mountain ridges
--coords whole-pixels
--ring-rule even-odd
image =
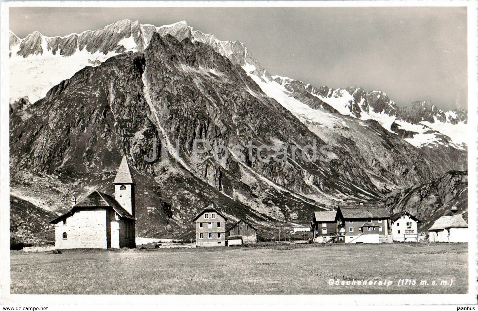
[[[467,9],[444,8],[10,8],[10,29],[66,35],[120,19],[185,20],[239,40],[272,75],[333,88],[380,90],[400,106],[431,100],[467,108]]]

